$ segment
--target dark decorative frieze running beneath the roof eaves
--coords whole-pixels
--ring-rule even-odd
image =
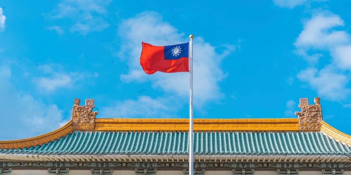
[[[173,163],[173,162],[0,162],[2,172],[6,169],[70,169],[70,170],[91,170],[98,171],[100,169],[108,170],[135,170],[135,169],[158,169],[158,170],[180,170],[189,168],[188,163]],[[317,170],[322,169],[330,171],[332,169],[339,171],[341,169],[351,171],[351,163],[211,163],[211,162],[195,162],[194,169],[197,171],[205,170],[269,170],[281,173],[290,170]],[[292,174],[291,174],[292,175]]]

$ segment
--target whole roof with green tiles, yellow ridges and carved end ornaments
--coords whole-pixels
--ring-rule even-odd
[[[73,159],[66,155],[85,155],[79,158],[83,160],[94,155],[112,159],[116,155],[139,155],[141,159],[141,155],[188,154],[188,119],[95,119],[98,112],[92,110],[94,100],[86,100],[85,106],[79,102],[74,100],[71,121],[53,132],[0,141],[0,159],[26,160],[29,155],[43,155],[40,160]],[[297,119],[194,119],[194,153],[203,155],[204,160],[211,155],[281,156],[280,159],[285,155],[302,159],[313,155],[343,156],[343,160],[350,161],[351,136],[324,122],[319,98],[314,102],[309,105],[308,99],[300,99]],[[57,157],[60,155],[66,158]],[[77,156],[74,159],[78,160]]]

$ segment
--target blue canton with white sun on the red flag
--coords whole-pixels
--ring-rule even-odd
[[[165,60],[177,60],[180,58],[189,58],[189,43],[183,43],[164,48]]]

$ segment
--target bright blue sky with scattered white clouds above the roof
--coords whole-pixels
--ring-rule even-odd
[[[98,118],[188,118],[189,73],[147,75],[141,42],[193,34],[194,118],[323,120],[351,134],[348,0],[0,2],[0,140],[48,133],[73,99]]]

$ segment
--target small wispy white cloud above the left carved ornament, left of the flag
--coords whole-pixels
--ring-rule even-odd
[[[44,92],[53,92],[58,88],[71,88],[77,81],[98,76],[97,73],[65,72],[58,65],[43,65],[39,68],[47,76],[35,77],[34,82]]]

